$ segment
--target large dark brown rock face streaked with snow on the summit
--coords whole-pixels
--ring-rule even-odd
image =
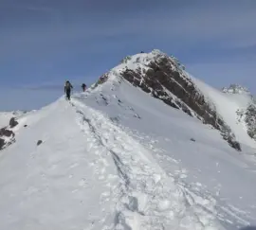
[[[182,110],[205,124],[210,124],[221,132],[232,148],[241,150],[229,126],[217,115],[214,106],[207,102],[191,78],[186,75],[185,67],[176,59],[157,50],[153,51],[153,54],[154,59],[145,58],[146,60],[141,61],[137,58],[137,68],[134,66],[130,68],[128,64],[119,75],[175,109]],[[122,63],[129,62],[130,59],[131,57],[128,56],[122,60]],[[106,81],[107,78],[107,74],[103,75],[99,83]]]

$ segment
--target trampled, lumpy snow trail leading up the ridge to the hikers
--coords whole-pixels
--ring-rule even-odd
[[[104,115],[77,99],[73,105],[81,116],[82,130],[89,134],[90,129],[90,135],[98,138],[119,174],[114,229],[221,229],[213,200],[196,199],[195,194],[175,185],[150,152]]]

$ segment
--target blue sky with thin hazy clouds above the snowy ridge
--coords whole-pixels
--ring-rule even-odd
[[[0,111],[39,109],[157,48],[256,95],[255,0],[0,0]]]

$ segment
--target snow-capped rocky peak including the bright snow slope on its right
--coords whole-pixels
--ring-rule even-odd
[[[250,97],[247,94],[240,94],[239,97],[227,94],[225,97],[220,91],[192,78],[184,69],[174,57],[154,50],[126,57],[117,67],[103,75],[93,88],[107,80],[128,80],[151,96],[210,124],[220,131],[234,149],[241,150],[241,143],[256,147],[251,134],[247,133],[248,123],[239,122],[237,115],[238,109],[247,108]],[[238,86],[232,89],[246,92]]]

